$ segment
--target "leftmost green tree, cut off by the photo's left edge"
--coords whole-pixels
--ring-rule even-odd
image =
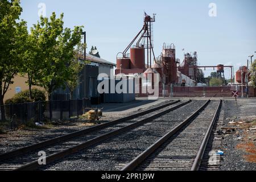
[[[27,38],[26,22],[19,20],[22,12],[19,0],[0,1],[0,104],[13,78],[22,65],[24,40]],[[1,107],[2,120],[5,120],[5,109]]]

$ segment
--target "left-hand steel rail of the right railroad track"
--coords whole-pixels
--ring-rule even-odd
[[[176,126],[174,129],[172,129],[169,133],[164,135],[164,137],[160,138],[157,142],[152,144],[152,146],[148,147],[142,154],[137,156],[132,162],[130,162],[127,166],[122,168],[121,171],[133,171],[135,168],[137,168],[148,156],[150,156],[153,152],[155,152],[164,142],[166,142],[168,139],[170,139],[174,134],[176,134],[180,129],[182,129],[187,123],[192,121],[193,118],[196,117],[202,110],[207,107],[207,105],[210,103],[210,100],[208,100],[203,106],[200,107],[195,113],[190,115],[187,119],[185,119],[183,122],[180,123],[180,125]]]

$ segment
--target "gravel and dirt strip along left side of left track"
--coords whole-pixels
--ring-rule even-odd
[[[137,111],[127,110],[126,112],[122,111],[122,113],[103,113],[104,117],[101,118],[100,122],[104,123],[113,121],[114,119],[126,117],[130,114],[139,113],[143,110],[167,104],[167,102],[170,101],[171,100],[163,100],[161,103],[156,102],[156,104],[152,102],[152,104],[148,107],[139,106]],[[45,129],[18,129],[15,131],[9,131],[7,134],[0,135],[0,154],[3,154],[7,151],[15,150],[20,147],[42,142],[47,139],[83,130],[94,125],[94,123],[88,123],[88,121],[77,121],[76,119],[73,119],[71,121],[57,122],[57,124],[57,126],[46,126]]]

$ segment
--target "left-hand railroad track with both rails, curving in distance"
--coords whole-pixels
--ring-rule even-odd
[[[129,117],[117,119],[102,125],[90,127],[89,129],[77,131],[61,137],[53,138],[44,142],[19,148],[18,150],[0,155],[0,170],[35,170],[42,167],[38,163],[39,151],[46,152],[46,163],[52,163],[57,159],[64,158],[83,148],[93,146],[96,143],[114,137],[127,131],[152,121],[170,111],[176,110],[187,102],[170,102],[168,104],[155,107]],[[175,106],[172,106],[175,105]]]

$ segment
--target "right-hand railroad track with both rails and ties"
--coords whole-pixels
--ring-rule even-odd
[[[179,126],[148,147],[122,171],[197,171],[222,101],[207,101]]]

